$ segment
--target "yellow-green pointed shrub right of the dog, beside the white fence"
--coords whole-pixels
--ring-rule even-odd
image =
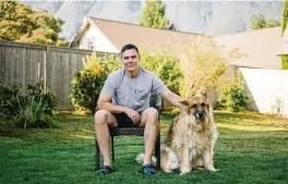
[[[242,108],[247,108],[248,96],[240,75],[237,81],[221,88],[218,98],[218,107],[228,111],[238,112]]]

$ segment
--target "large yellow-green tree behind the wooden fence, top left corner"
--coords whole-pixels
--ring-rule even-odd
[[[46,10],[33,10],[16,1],[0,2],[0,39],[67,46],[58,36],[63,23]]]

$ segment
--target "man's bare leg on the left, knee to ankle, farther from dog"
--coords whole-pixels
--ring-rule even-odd
[[[107,110],[98,110],[95,113],[95,134],[103,155],[104,165],[111,165],[109,154],[109,126],[116,127],[117,121],[115,115]]]

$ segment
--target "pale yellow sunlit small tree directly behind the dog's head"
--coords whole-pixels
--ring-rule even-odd
[[[217,89],[226,71],[227,60],[242,56],[238,49],[221,49],[212,37],[196,36],[181,52],[180,66],[184,77],[180,95],[190,98],[202,87],[207,90]]]

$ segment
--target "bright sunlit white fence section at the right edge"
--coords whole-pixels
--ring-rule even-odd
[[[245,93],[250,95],[250,110],[288,116],[288,71],[239,70],[245,82]]]

